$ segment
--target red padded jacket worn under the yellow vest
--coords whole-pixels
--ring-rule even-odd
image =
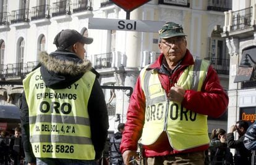
[[[181,73],[183,73],[187,66],[194,64],[194,59],[189,50],[187,50],[186,55],[180,63],[180,67],[177,68],[177,70],[174,71],[171,76],[168,76],[161,72],[163,58],[164,55],[161,54],[156,62],[150,66],[150,69],[158,70],[161,86],[166,91],[166,94],[168,94],[169,89],[174,86],[179,79],[179,76],[181,76]],[[197,92],[186,90],[184,100],[182,101],[182,106],[188,110],[194,111],[195,113],[208,115],[213,118],[218,118],[224,113],[224,111],[226,111],[226,108],[228,107],[228,95],[226,95],[226,93],[223,91],[223,87],[221,87],[218,79],[218,74],[211,65],[208,68],[207,78],[203,82],[202,91]],[[145,95],[141,89],[139,77],[135,84],[134,92],[130,97],[130,104],[127,111],[127,121],[122,134],[122,143],[120,147],[122,153],[124,153],[126,150],[137,150],[137,142],[142,135],[144,120]],[[201,147],[184,151],[174,150],[169,144],[166,133],[163,132],[150,150],[145,149],[145,156],[153,157],[173,155],[176,153],[204,151],[207,150],[207,148],[208,145],[203,145]]]

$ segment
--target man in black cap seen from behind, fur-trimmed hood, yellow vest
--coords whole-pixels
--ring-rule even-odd
[[[55,52],[40,54],[23,80],[21,121],[29,164],[96,164],[108,135],[105,97],[84,44],[92,38],[62,30]],[[36,158],[36,161],[35,161]]]

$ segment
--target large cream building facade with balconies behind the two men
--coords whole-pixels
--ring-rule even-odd
[[[226,39],[221,37],[224,12],[232,7],[231,0],[151,0],[130,12],[130,20],[176,22],[187,34],[187,48],[194,58],[211,61],[223,88],[229,89],[229,53]],[[101,74],[109,108],[111,130],[117,122],[126,121],[130,89],[134,87],[143,66],[159,55],[158,33],[90,29],[89,18],[126,19],[126,12],[106,0],[2,0],[0,2],[0,103],[19,105],[23,91],[20,82],[38,63],[41,51],[53,52],[54,36],[70,28],[94,39],[85,46],[88,59]],[[115,89],[116,86],[124,88]],[[227,114],[213,128],[226,128]]]

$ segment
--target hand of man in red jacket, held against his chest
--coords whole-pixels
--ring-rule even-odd
[[[174,84],[173,87],[171,87],[168,96],[168,99],[173,102],[181,103],[184,99],[185,95],[185,89],[183,87],[178,86],[177,84]]]

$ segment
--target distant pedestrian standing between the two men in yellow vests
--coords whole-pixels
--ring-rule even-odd
[[[111,163],[113,165],[122,165],[124,160],[122,159],[122,153],[120,152],[120,143],[122,140],[122,132],[124,132],[124,123],[119,123],[117,126],[117,132],[110,139],[111,144]]]

